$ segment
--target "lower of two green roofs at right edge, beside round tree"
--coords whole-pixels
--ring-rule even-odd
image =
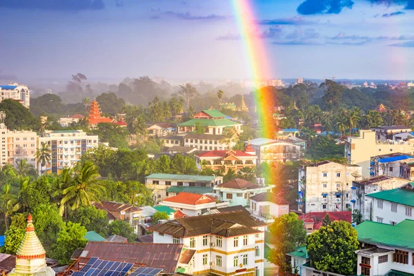
[[[405,219],[395,226],[364,221],[355,227],[359,242],[414,250],[414,220]]]

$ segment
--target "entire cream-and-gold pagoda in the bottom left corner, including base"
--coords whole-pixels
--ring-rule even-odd
[[[16,267],[10,276],[55,276],[55,271],[46,265],[46,251],[34,232],[32,215],[28,216],[26,234],[16,253]]]

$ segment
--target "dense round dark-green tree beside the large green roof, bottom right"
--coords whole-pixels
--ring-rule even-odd
[[[306,238],[311,266],[317,270],[355,274],[359,248],[357,231],[346,221],[332,221]]]

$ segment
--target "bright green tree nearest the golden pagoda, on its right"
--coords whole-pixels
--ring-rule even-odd
[[[61,265],[69,264],[73,251],[86,246],[88,241],[85,239],[85,235],[85,227],[68,221],[66,226],[58,233],[56,243],[52,246],[50,257],[57,259]]]

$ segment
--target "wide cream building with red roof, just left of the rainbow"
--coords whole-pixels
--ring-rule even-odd
[[[255,168],[257,159],[255,152],[250,154],[246,150],[201,151],[195,154],[195,161],[199,168],[223,169],[225,172],[230,169],[237,172],[242,168]]]

